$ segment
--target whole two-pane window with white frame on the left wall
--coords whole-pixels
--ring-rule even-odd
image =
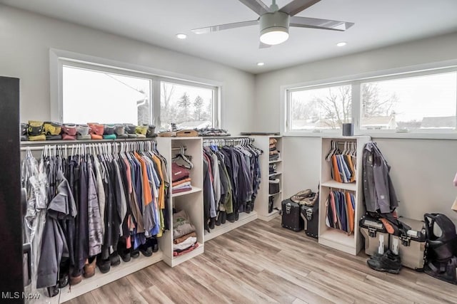
[[[51,50],[51,119],[156,125],[156,130],[219,128],[219,84]],[[71,59],[70,59],[71,58]],[[160,71],[160,73],[166,73]]]

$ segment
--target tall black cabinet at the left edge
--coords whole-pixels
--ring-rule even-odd
[[[24,275],[17,78],[0,77],[0,126],[0,302],[21,303]]]

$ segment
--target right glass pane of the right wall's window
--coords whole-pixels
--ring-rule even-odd
[[[361,83],[361,129],[455,129],[457,73]]]

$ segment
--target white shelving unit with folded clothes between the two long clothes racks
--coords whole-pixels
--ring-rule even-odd
[[[185,210],[191,223],[195,226],[197,243],[199,247],[182,256],[173,256],[173,214],[169,214],[170,231],[166,231],[161,237],[159,247],[163,253],[163,260],[169,266],[174,267],[184,261],[204,253],[204,209],[203,209],[203,156],[201,137],[157,137],[157,148],[165,157],[169,166],[169,180],[171,181],[171,159],[176,152],[173,148],[186,147],[186,155],[192,157],[194,167],[190,169],[192,189],[188,192],[171,194],[169,204],[176,211]]]

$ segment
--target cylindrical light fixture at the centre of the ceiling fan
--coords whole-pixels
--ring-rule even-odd
[[[273,46],[288,39],[289,16],[282,11],[260,16],[260,41]]]

